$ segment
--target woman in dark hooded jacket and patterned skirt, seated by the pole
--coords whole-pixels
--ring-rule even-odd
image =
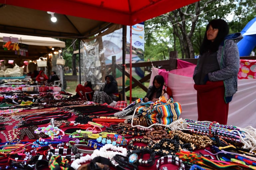
[[[105,77],[105,85],[100,91],[95,91],[93,95],[93,102],[111,104],[113,101],[118,101],[118,86],[115,78],[112,75]]]

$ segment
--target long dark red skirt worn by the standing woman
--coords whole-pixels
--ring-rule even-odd
[[[223,81],[207,81],[205,85],[194,85],[197,91],[198,121],[216,121],[227,124],[228,103],[224,100]]]

